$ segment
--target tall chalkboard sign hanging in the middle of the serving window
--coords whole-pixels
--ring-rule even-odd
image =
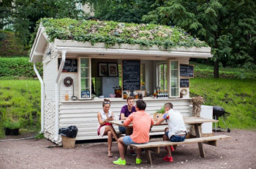
[[[140,90],[140,60],[123,60],[123,90]]]

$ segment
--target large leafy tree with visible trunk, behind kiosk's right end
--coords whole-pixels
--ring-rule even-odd
[[[144,21],[178,25],[211,46],[215,78],[219,77],[219,62],[252,61],[255,1],[157,0],[153,6],[155,9],[143,16]]]

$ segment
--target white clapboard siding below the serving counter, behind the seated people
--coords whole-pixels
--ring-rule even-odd
[[[173,109],[180,111],[184,116],[189,116],[189,103],[190,99],[147,99],[144,101],[147,103],[146,112],[153,114],[167,103],[173,103]],[[110,110],[112,110],[115,116],[118,116],[121,111],[121,107],[126,104],[125,100],[112,101]],[[78,135],[76,140],[91,140],[107,138],[97,135],[97,127],[99,125],[97,119],[97,112],[102,109],[102,101],[68,101],[60,103],[60,127],[68,127],[75,125],[78,127]],[[118,131],[118,127],[114,125]],[[164,130],[166,126],[154,126],[154,130]],[[151,133],[151,135],[162,134],[162,132]]]

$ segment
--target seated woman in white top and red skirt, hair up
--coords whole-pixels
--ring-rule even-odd
[[[102,103],[103,109],[98,112],[98,135],[108,135],[108,157],[113,157],[111,153],[112,139],[113,137],[118,141],[118,137],[116,135],[116,130],[109,123],[110,120],[113,120],[113,111],[110,111],[110,100],[104,99]]]

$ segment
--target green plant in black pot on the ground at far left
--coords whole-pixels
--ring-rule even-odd
[[[18,135],[20,130],[20,122],[7,119],[4,122],[5,135]]]

